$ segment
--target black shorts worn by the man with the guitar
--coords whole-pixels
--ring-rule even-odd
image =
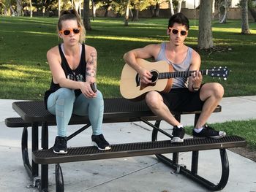
[[[200,90],[191,92],[188,88],[173,88],[169,93],[160,94],[171,111],[193,112],[203,107],[199,93]]]

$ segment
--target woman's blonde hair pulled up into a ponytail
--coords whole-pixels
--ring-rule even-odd
[[[80,15],[75,9],[62,10],[61,15],[57,24],[57,31],[61,31],[62,29],[62,21],[64,20],[76,20],[78,22],[78,27],[80,27],[80,36],[79,42],[83,43],[86,40],[86,29],[83,26],[83,20],[80,18]]]

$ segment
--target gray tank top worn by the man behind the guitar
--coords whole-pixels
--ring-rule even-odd
[[[157,55],[156,61],[167,61],[168,64],[173,66],[175,72],[187,72],[189,71],[189,66],[192,59],[192,48],[188,47],[186,58],[181,64],[173,64],[172,61],[166,58],[165,55],[166,42],[162,42],[161,49]],[[187,88],[189,84],[189,79],[187,77],[176,77],[173,78],[172,88]]]

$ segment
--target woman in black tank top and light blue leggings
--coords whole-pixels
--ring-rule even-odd
[[[47,59],[53,77],[50,89],[45,92],[45,106],[56,115],[58,128],[53,152],[67,153],[67,125],[72,113],[88,114],[93,144],[99,150],[109,150],[110,145],[102,134],[102,93],[94,90],[97,50],[83,44],[85,28],[75,9],[61,12],[57,30],[62,43],[48,50]]]

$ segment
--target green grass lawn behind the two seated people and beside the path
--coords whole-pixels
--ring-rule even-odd
[[[0,16],[0,98],[42,100],[50,85],[46,52],[59,44],[57,18]],[[124,53],[150,43],[167,41],[167,19],[140,19],[124,27],[123,18],[95,18],[93,30],[87,31],[86,43],[97,48],[97,87],[105,98],[121,96],[119,80]],[[186,44],[196,49],[197,26],[191,20]],[[213,24],[216,51],[199,51],[202,69],[227,66],[231,72],[226,81],[205,77],[204,82],[220,82],[225,96],[256,94],[256,23],[249,23],[251,35],[241,35],[241,21],[228,20]],[[256,149],[256,120],[217,123],[214,127],[245,137]],[[191,130],[191,128],[190,128]],[[188,130],[187,130],[188,131]]]

